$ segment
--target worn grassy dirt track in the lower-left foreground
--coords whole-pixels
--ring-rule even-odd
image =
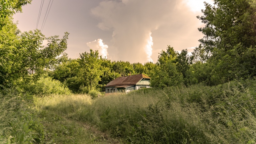
[[[44,144],[121,144],[121,139],[112,138],[89,123],[57,114],[44,115],[41,122],[45,128]]]

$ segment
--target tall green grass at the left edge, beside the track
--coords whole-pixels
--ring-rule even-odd
[[[27,95],[13,90],[0,93],[0,144],[42,143],[44,128]]]

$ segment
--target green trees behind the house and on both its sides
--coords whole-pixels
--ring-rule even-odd
[[[151,77],[152,87],[166,87],[178,84],[195,84],[197,77],[191,78],[193,56],[188,50],[181,53],[168,46],[158,57],[157,63],[130,63],[111,61],[99,56],[98,51],[90,50],[80,54],[78,59],[69,59],[64,54],[48,75],[59,80],[73,93],[105,92],[105,85],[120,76],[144,74]],[[189,71],[190,70],[190,71]]]

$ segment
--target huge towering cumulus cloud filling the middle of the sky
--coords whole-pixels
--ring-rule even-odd
[[[108,0],[91,12],[100,21],[98,28],[112,31],[108,48],[112,60],[156,61],[167,45],[182,50],[197,46],[190,41],[202,37],[196,19],[200,13],[180,0]]]

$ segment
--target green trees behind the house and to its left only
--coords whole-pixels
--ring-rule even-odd
[[[88,93],[90,91],[105,92],[105,85],[120,76],[135,74],[150,75],[156,65],[147,62],[130,63],[128,61],[111,61],[99,56],[98,51],[91,50],[80,54],[78,59],[68,59],[67,54],[61,57],[61,62],[48,71],[48,75],[59,80],[73,93]]]

